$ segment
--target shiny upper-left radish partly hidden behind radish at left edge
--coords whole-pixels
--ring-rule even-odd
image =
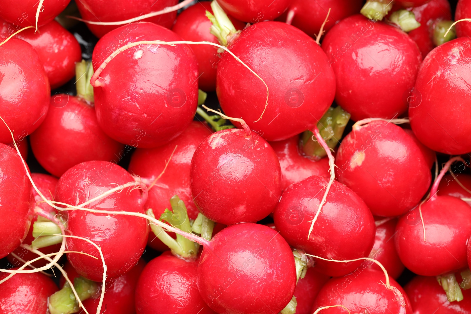
[[[16,31],[15,27],[0,20],[2,40]],[[4,38],[5,37],[5,38]],[[73,78],[75,63],[81,60],[81,48],[78,41],[56,21],[51,21],[38,28],[18,33],[15,38],[31,44],[48,75],[51,89],[57,89]]]

